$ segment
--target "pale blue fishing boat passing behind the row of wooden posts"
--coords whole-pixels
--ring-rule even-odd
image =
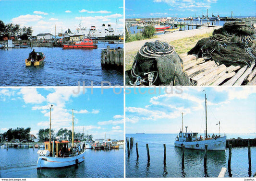
[[[207,105],[207,98],[205,94],[205,105]],[[220,122],[219,122],[220,124]],[[226,148],[226,139],[227,136],[212,136],[209,137],[207,135],[207,106],[206,106],[206,131],[204,138],[202,136],[198,137],[198,133],[196,132],[183,132],[183,113],[182,113],[182,130],[179,135],[176,137],[174,146],[175,147],[184,147],[190,149],[205,149],[205,145],[207,146],[207,150],[225,150]]]

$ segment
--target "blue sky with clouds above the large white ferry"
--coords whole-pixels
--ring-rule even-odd
[[[79,27],[100,28],[103,23],[123,29],[122,0],[0,0],[0,20],[32,26],[39,33],[73,32]],[[116,24],[116,20],[118,23]]]

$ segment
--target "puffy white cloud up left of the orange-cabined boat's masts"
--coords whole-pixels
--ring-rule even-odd
[[[46,98],[37,92],[36,88],[22,88],[18,94],[23,95],[25,103],[42,103],[46,101]]]

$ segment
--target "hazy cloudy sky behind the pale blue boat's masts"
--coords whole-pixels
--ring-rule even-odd
[[[181,88],[179,88],[181,89]],[[141,88],[127,94],[125,133],[204,133],[205,90],[207,92],[207,132],[256,133],[256,87],[183,87],[182,91]],[[160,92],[160,93],[159,93]],[[171,92],[170,90],[168,92]],[[175,93],[176,92],[176,93]],[[182,92],[182,93],[181,93]]]

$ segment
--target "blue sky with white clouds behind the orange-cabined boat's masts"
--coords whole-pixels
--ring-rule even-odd
[[[74,132],[93,135],[93,139],[110,137],[123,139],[123,94],[113,89],[86,89],[85,94],[76,92],[77,87],[60,88],[2,88],[0,89],[0,133],[9,128],[31,127],[37,135],[41,128],[49,128],[49,106],[51,126],[55,134],[60,128],[72,130],[74,109]],[[119,92],[119,89],[116,91]]]

